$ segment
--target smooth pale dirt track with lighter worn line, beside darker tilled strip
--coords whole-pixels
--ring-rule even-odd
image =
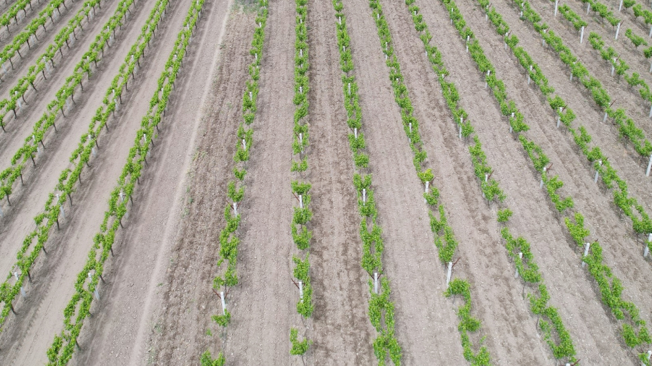
[[[197,128],[200,122],[207,122],[204,120],[207,113],[213,111],[215,100],[211,81],[215,79],[216,65],[221,60],[220,42],[228,8],[228,4],[220,1],[204,5],[173,92],[170,108],[174,112],[166,116],[160,132],[163,139],[156,143],[151,161],[148,160],[150,165],[141,178],[142,186],[136,193],[136,205],[127,221],[128,229],[120,238],[117,260],[108,272],[110,284],[105,289],[108,301],[99,309],[102,316],[90,324],[93,332],[83,339],[87,348],[79,355],[80,365],[141,365],[156,355],[151,352],[149,336],[153,330],[160,330],[160,323],[153,326],[155,313],[166,309],[162,307],[160,287],[165,271],[168,264],[179,263],[168,259],[183,217],[184,188],[188,179],[183,173],[188,171],[194,157]],[[179,14],[185,16],[186,10],[179,9]],[[162,38],[166,46],[171,48],[179,28],[175,27],[173,33]],[[167,59],[169,51],[162,53],[160,58]],[[160,74],[160,69],[157,73]],[[158,74],[151,79],[156,79]],[[153,91],[148,91],[146,96],[151,94]],[[192,276],[191,279],[196,278]],[[210,279],[204,275],[200,278]],[[208,289],[200,290],[208,294]],[[204,314],[204,322],[209,319]],[[188,324],[196,325],[195,321]],[[201,336],[205,330],[193,328],[196,330],[193,333],[186,329],[181,332],[181,329],[173,334],[175,345],[180,345],[183,339],[192,339],[190,335]],[[190,360],[198,357],[196,348],[184,348],[184,351],[196,351]]]

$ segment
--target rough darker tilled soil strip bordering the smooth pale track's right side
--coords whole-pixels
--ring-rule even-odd
[[[222,9],[221,6],[218,9]],[[218,66],[212,66],[214,71],[209,77],[201,72],[193,77],[205,79],[210,89],[201,115],[197,145],[193,149],[192,168],[184,184],[184,208],[171,216],[179,220],[180,229],[169,239],[166,251],[158,249],[158,255],[167,263],[166,272],[156,275],[149,283],[157,283],[160,290],[152,298],[156,304],[151,310],[153,317],[143,322],[148,332],[145,351],[148,365],[195,365],[205,350],[216,353],[222,347],[219,326],[211,320],[211,315],[221,311],[221,305],[211,287],[216,274],[218,237],[225,224],[227,183],[233,174],[233,136],[237,121],[242,119],[239,106],[248,79],[254,18],[252,12],[231,12],[224,42],[218,40],[216,27],[206,33],[207,38],[202,42],[216,40],[218,48],[201,54],[212,57]],[[188,87],[191,85],[189,83]],[[183,120],[184,115],[177,113],[175,118]],[[145,237],[155,234],[160,225],[166,223],[155,216],[149,217],[147,225],[141,224]],[[168,225],[173,225],[173,221],[169,222]],[[148,242],[155,246],[156,237]],[[137,270],[140,267],[138,259],[142,260],[139,257],[142,256],[130,261],[129,267]],[[125,292],[126,301],[136,290],[123,289],[121,292]]]

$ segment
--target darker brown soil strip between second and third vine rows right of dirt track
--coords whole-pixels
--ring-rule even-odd
[[[310,247],[314,289],[310,359],[314,365],[372,365],[376,338],[368,312],[369,275],[362,242],[353,160],[330,1],[308,3],[310,42]]]

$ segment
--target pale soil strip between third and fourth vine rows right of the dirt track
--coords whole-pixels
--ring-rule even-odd
[[[421,182],[413,171],[412,152],[400,124],[369,4],[348,1],[344,12],[374,175],[378,222],[385,240],[384,274],[391,281],[403,362],[462,364],[466,361],[456,330],[458,319],[441,296],[445,277],[441,275],[428,212],[421,204]]]

